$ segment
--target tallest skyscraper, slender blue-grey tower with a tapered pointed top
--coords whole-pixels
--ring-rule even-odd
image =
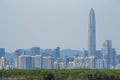
[[[95,56],[96,53],[96,22],[93,8],[89,14],[89,29],[88,29],[88,55]]]

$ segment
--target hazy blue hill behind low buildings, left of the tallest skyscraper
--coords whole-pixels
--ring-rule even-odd
[[[82,52],[80,50],[72,50],[72,49],[64,49],[60,51],[61,57],[73,57],[74,55],[82,56]]]

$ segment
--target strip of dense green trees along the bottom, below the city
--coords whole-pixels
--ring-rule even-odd
[[[120,80],[120,70],[0,70],[0,77],[17,80]]]

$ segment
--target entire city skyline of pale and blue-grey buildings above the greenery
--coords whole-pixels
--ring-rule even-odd
[[[0,69],[120,69],[120,54],[112,47],[112,41],[106,40],[101,50],[96,50],[96,21],[93,8],[89,14],[88,50],[82,56],[61,57],[60,47],[54,50],[40,47],[18,49],[14,58],[5,56],[5,49],[0,48]]]

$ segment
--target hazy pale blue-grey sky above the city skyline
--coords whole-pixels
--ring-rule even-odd
[[[120,51],[120,0],[0,0],[0,47],[88,49],[91,8],[97,49],[110,39]]]

